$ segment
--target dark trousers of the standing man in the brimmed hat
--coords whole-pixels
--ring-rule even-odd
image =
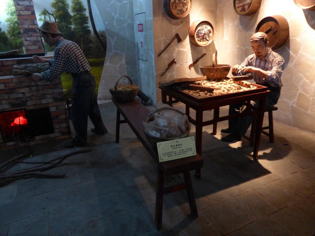
[[[72,83],[73,98],[70,115],[76,132],[74,141],[78,146],[83,146],[87,142],[88,116],[96,130],[103,131],[106,128],[95,96],[94,76],[89,71],[72,74]]]

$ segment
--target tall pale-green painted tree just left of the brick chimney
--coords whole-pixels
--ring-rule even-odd
[[[13,47],[12,49],[19,49],[20,52],[25,53],[23,39],[21,36],[20,26],[19,26],[18,18],[16,16],[13,0],[7,2],[5,12],[8,16],[5,22],[7,22],[7,25],[8,25],[7,34],[8,34],[10,42],[12,43],[12,47]]]

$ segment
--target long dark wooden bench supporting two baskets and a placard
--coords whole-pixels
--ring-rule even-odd
[[[191,157],[159,162],[157,149],[154,148],[153,145],[146,139],[143,131],[142,121],[146,120],[146,117],[150,113],[150,111],[136,99],[131,102],[125,103],[116,102],[114,98],[112,98],[112,101],[117,107],[116,143],[119,143],[120,124],[128,123],[132,131],[135,133],[137,138],[140,140],[142,145],[146,148],[148,153],[157,164],[158,171],[155,201],[155,225],[157,229],[160,229],[162,227],[163,195],[182,189],[187,190],[191,214],[192,216],[197,218],[197,206],[192,189],[192,181],[189,171],[201,168],[203,166],[203,158],[197,154]],[[120,120],[120,115],[123,116],[124,120]],[[184,174],[184,183],[164,187],[165,176],[172,176],[180,173]]]

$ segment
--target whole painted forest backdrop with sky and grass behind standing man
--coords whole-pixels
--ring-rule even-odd
[[[0,7],[3,7],[5,11],[5,19],[3,20],[2,14],[0,21],[4,21],[4,24],[0,23],[0,52],[18,49],[19,53],[25,53],[14,2],[13,0],[3,1],[5,3],[0,3]],[[95,76],[98,85],[106,56],[106,35],[96,6],[93,9],[94,1],[33,0],[33,3],[39,26],[46,19],[54,20],[62,33],[62,37],[74,41],[80,46],[91,65],[91,72]],[[5,6],[1,4],[5,4]],[[94,10],[93,13],[92,10]],[[44,51],[54,51],[54,47],[49,47],[46,43],[43,43],[43,47]],[[71,75],[63,73],[61,79],[66,99],[71,98]]]

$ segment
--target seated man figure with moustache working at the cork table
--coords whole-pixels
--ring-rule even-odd
[[[280,97],[281,74],[284,67],[284,59],[268,48],[268,36],[263,32],[257,32],[250,38],[250,44],[253,54],[249,55],[241,65],[232,67],[232,74],[235,76],[246,75],[251,73],[254,76],[256,84],[268,87],[270,93],[266,96],[266,107],[268,109],[277,104]],[[251,104],[258,107],[259,101],[251,101]],[[233,104],[229,107],[229,115],[245,111],[246,106]],[[241,116],[229,120],[229,127],[222,129],[222,133],[229,133],[221,138],[223,142],[240,141],[245,135],[250,124],[253,121],[253,116]]]

